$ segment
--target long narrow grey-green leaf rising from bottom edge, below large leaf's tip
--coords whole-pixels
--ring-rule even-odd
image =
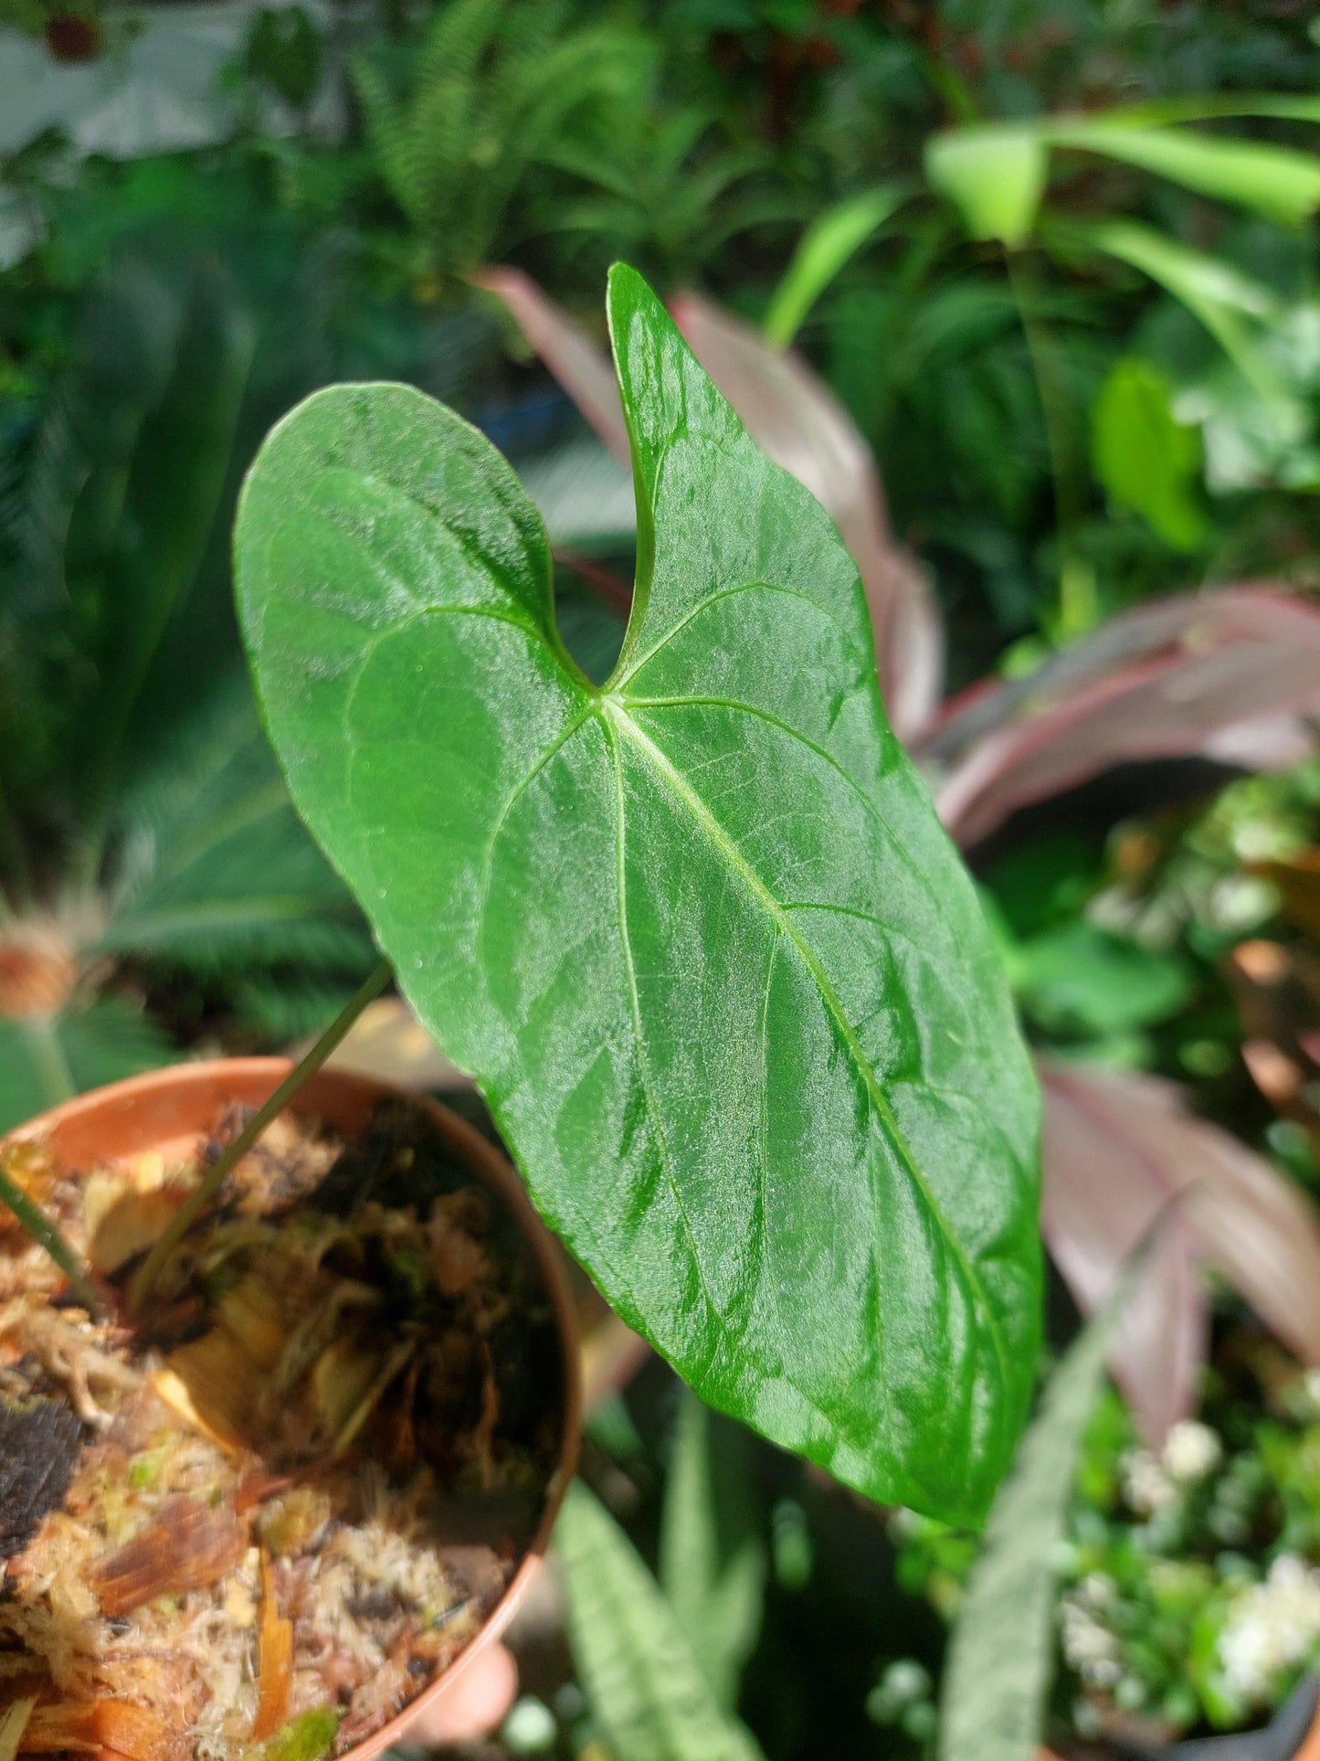
[[[940,1761],[1037,1761],[1054,1668],[1056,1558],[1111,1319],[1126,1289],[1123,1278],[1054,1370],[994,1500],[949,1639]]]

